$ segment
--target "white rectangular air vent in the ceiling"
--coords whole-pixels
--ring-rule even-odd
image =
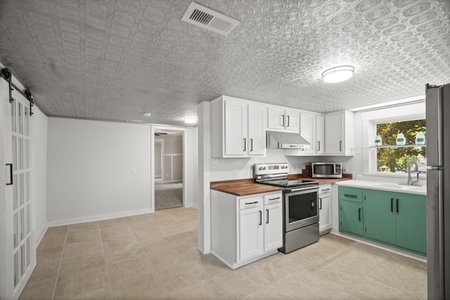
[[[223,35],[228,35],[231,30],[239,25],[238,20],[217,13],[217,11],[195,2],[191,2],[181,20]]]

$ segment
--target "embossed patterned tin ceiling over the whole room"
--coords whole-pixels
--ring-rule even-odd
[[[226,37],[190,2],[1,0],[0,62],[48,115],[172,125],[220,95],[332,112],[450,81],[449,0],[196,1],[240,21]]]

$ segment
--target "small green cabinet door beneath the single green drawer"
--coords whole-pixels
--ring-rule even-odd
[[[339,200],[339,230],[363,235],[363,206],[358,202]]]

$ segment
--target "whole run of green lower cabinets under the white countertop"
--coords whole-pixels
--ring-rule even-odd
[[[349,192],[347,187],[339,187],[339,190],[340,196]],[[344,200],[343,196],[339,199],[340,231],[426,255],[427,220],[424,195],[364,188],[359,190],[362,203]],[[355,188],[353,193],[356,195]]]

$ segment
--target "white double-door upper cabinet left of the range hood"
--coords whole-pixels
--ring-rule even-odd
[[[210,107],[212,157],[266,155],[266,106],[222,96]]]

